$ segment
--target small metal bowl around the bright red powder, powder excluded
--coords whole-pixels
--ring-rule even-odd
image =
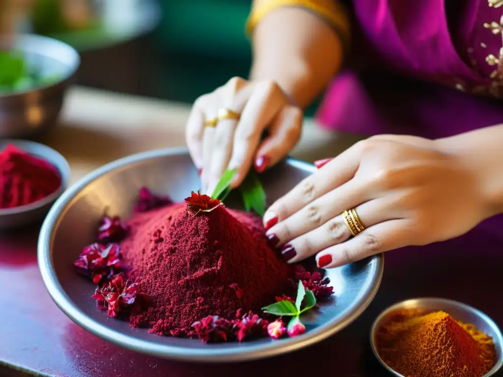
[[[0,230],[21,228],[43,220],[56,199],[65,191],[70,177],[68,162],[54,149],[33,141],[6,139],[0,141],[0,151],[4,150],[8,144],[14,144],[25,152],[54,165],[61,176],[61,185],[54,193],[34,203],[15,208],[0,209]]]

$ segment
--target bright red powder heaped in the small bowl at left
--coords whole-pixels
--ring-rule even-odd
[[[61,177],[50,163],[9,144],[0,152],[0,208],[25,206],[59,189]]]

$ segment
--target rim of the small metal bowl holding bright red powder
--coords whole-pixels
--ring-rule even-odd
[[[12,144],[21,143],[21,144],[28,144],[28,145],[36,145],[38,147],[50,150],[52,153],[56,154],[61,159],[61,164],[55,164],[54,162],[47,160],[47,158],[45,158],[43,156],[37,156],[40,159],[42,159],[46,162],[49,162],[51,165],[53,165],[55,168],[58,169],[58,172],[59,172],[60,178],[61,178],[61,183],[59,184],[58,189],[54,193],[52,193],[51,195],[49,195],[43,199],[40,199],[36,202],[30,203],[30,204],[27,204],[24,206],[0,209],[0,217],[1,216],[9,216],[9,215],[18,215],[18,214],[27,213],[27,212],[30,212],[33,210],[37,210],[41,207],[44,207],[44,206],[54,202],[61,195],[61,193],[66,189],[66,186],[68,185],[69,176],[70,176],[70,165],[68,164],[68,161],[66,160],[66,158],[64,158],[63,155],[61,155],[61,153],[59,153],[57,150],[55,150],[45,144],[37,143],[37,142],[31,141],[31,140],[2,139],[0,141],[2,141],[2,143],[8,143],[8,144],[9,143],[12,143]],[[25,150],[25,152],[31,153],[29,150]]]

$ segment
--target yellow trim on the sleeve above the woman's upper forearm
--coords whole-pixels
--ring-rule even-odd
[[[307,8],[326,19],[343,33],[349,33],[344,8],[337,0],[270,0],[260,8],[253,8],[246,22],[246,34],[251,35],[257,24],[270,12],[280,7]]]

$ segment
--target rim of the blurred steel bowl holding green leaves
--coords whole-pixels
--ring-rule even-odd
[[[66,82],[69,82],[70,80],[72,80],[72,78],[75,76],[78,68],[80,67],[81,59],[80,59],[80,55],[79,55],[78,51],[65,42],[59,41],[55,38],[46,37],[46,36],[37,35],[37,34],[29,34],[29,33],[16,34],[15,38],[17,38],[17,39],[31,39],[31,40],[35,40],[35,41],[36,40],[50,41],[52,43],[56,43],[56,44],[64,47],[68,51],[71,51],[71,53],[74,55],[74,58],[75,58],[75,64],[70,67],[68,74],[64,75],[64,77],[62,77],[61,79],[57,80],[56,82],[54,82],[52,84],[37,86],[37,87],[33,87],[30,89],[26,89],[26,90],[20,90],[20,91],[8,92],[8,93],[0,93],[0,100],[7,100],[7,99],[15,100],[18,98],[22,98],[24,96],[32,95],[32,93],[41,92],[41,91],[44,91],[44,92],[50,91],[54,87],[59,86],[59,85],[64,86],[64,84]],[[23,51],[23,49],[21,49],[21,51]]]

